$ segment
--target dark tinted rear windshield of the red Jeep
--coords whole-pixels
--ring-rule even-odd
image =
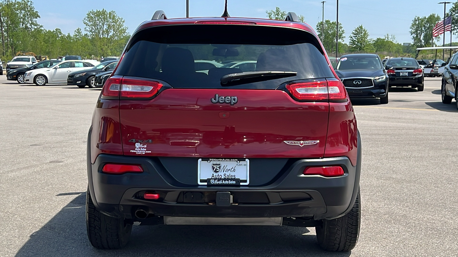
[[[115,75],[163,80],[174,88],[222,88],[220,79],[228,74],[297,72],[295,76],[273,80],[240,80],[230,87],[275,89],[287,81],[333,77],[317,46],[316,38],[308,32],[289,28],[153,27],[134,35]]]

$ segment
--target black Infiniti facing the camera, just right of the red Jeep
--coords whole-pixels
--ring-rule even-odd
[[[377,54],[343,55],[336,73],[350,98],[380,98],[380,103],[388,103],[388,76]]]

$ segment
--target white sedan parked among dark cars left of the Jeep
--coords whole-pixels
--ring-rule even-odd
[[[44,86],[47,83],[66,83],[68,75],[77,70],[87,70],[94,64],[85,60],[61,61],[51,68],[29,70],[25,74],[27,84],[34,83],[37,86]]]

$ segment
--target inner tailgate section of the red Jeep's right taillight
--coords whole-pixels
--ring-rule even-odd
[[[291,83],[286,85],[286,89],[299,100],[328,99],[326,80]]]

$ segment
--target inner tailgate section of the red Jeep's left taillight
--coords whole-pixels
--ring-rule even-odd
[[[122,97],[148,98],[154,96],[162,87],[162,83],[149,80],[122,79]]]

